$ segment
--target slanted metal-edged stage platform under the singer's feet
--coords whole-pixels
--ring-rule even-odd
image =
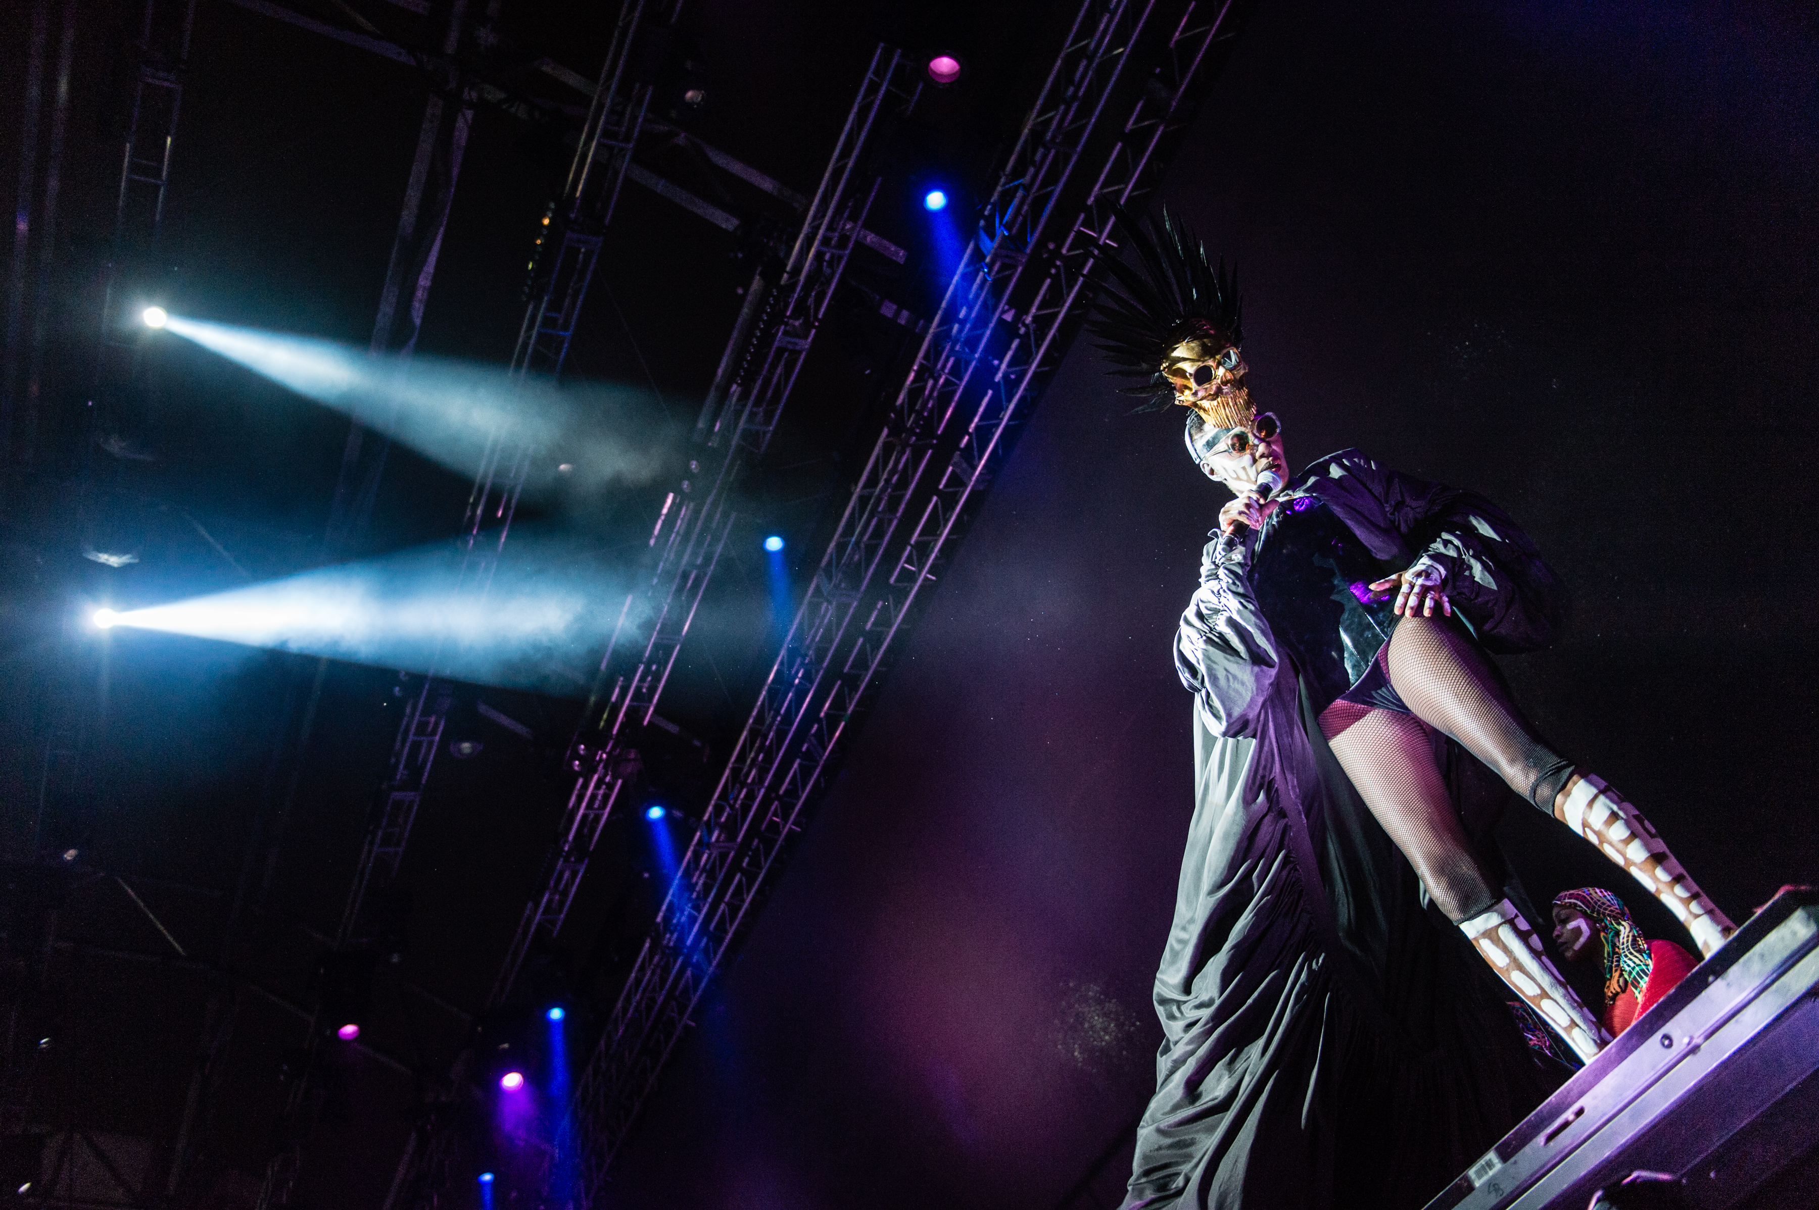
[[[1784,890],[1426,1210],[1584,1210],[1632,1172],[1693,1210],[1819,1183],[1819,892]],[[1799,1177],[1799,1185],[1806,1185]],[[1766,1199],[1766,1201],[1764,1201]]]

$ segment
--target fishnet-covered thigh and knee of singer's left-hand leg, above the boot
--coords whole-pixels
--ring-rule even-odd
[[[1462,921],[1490,907],[1490,883],[1446,794],[1433,739],[1421,719],[1335,701],[1321,712],[1321,730],[1359,798],[1415,867],[1446,919]]]

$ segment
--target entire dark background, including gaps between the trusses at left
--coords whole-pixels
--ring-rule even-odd
[[[93,267],[106,231],[116,156],[106,98],[120,87],[107,64],[133,7],[82,9],[93,71],[78,80],[71,127],[73,265]],[[357,7],[387,29],[411,20]],[[591,74],[611,7],[513,0],[506,15],[513,36],[560,47]],[[698,133],[811,187],[851,64],[888,7],[940,5],[691,2],[688,22],[731,98]],[[937,125],[964,127],[975,176],[993,127],[1015,124],[1030,73],[1051,56],[1046,38],[1020,42],[1013,7],[944,5],[973,45],[997,47],[975,64],[1002,67],[931,102],[931,113],[948,107]],[[1162,187],[1239,263],[1251,385],[1282,416],[1291,461],[1357,445],[1492,496],[1539,540],[1575,616],[1550,650],[1504,670],[1557,747],[1650,812],[1732,916],[1819,874],[1806,761],[1819,721],[1808,623],[1819,596],[1819,27],[1808,7],[1417,0],[1386,13],[1262,0]],[[196,314],[364,342],[422,82],[215,0],[196,38],[166,285]],[[9,69],[16,58],[0,47]],[[5,165],[13,125],[7,111]],[[528,233],[564,165],[553,134],[480,113],[424,351],[508,356]],[[919,218],[900,209],[891,222]],[[571,372],[655,382],[693,420],[749,267],[729,260],[720,233],[631,189],[606,247]],[[879,269],[855,273],[886,293],[928,285]],[[84,283],[62,287],[80,312]],[[842,362],[848,336],[828,342],[839,356],[811,363],[811,389],[791,403],[806,427],[844,425],[837,409],[860,396],[859,369]],[[256,576],[306,565],[344,422],[200,354],[160,356],[162,461],[129,471],[206,520]],[[648,1101],[608,1206],[1073,1210],[1090,1199],[1062,1199],[1086,1177],[1117,1197],[1128,1163],[1117,1146],[1153,1081],[1150,981],[1191,808],[1190,701],[1170,641],[1222,492],[1182,456],[1175,416],[1126,416],[1100,371],[1075,349],[1040,402],[749,941]],[[64,403],[78,400],[71,389]],[[799,560],[811,549],[800,534],[846,474],[822,461],[799,472],[820,476],[806,489],[768,480],[773,501],[808,500],[799,512],[749,520],[782,516]],[[447,534],[466,491],[397,454],[369,547]],[[53,498],[27,503],[44,512]],[[176,514],[158,516],[146,563],[122,576],[40,541],[56,518],[7,518],[7,676],[51,650],[31,645],[51,629],[33,610],[64,610],[69,585],[149,600],[238,583]],[[740,549],[755,550],[759,532],[742,532]],[[762,592],[759,560],[733,558],[719,583],[726,596],[709,600],[666,699],[717,741],[717,694],[737,694],[742,718],[768,658],[753,654],[762,625],[731,616]],[[80,838],[95,868],[200,885],[166,887],[153,903],[180,936],[213,937],[296,661],[135,643],[122,638],[109,665],[93,761],[102,788],[71,810],[80,818],[53,819],[67,828],[55,836]],[[731,692],[702,652],[719,652]],[[293,999],[309,994],[300,927],[333,930],[391,743],[389,679],[384,669],[329,676],[269,912],[242,939],[242,970]],[[549,752],[575,710],[487,698],[555,747],[495,730],[484,758],[438,763],[437,808],[406,867],[417,905],[404,977],[467,1008],[484,999],[548,848],[564,792]],[[9,852],[25,827],[29,714],[25,694],[0,703]],[[578,1001],[611,1001],[642,936],[642,827],[611,825],[564,934],[557,965]],[[1502,827],[1535,898],[1588,881],[1628,890],[1566,839],[1533,812]],[[1655,912],[1643,905],[1639,917],[1661,936]],[[85,901],[65,928],[158,947],[124,899]],[[49,1059],[60,1092],[45,1114],[167,1137],[204,983],[135,970],[73,963]],[[387,985],[382,999],[373,1045],[446,1070],[460,1028],[418,992]],[[575,1030],[588,1019],[577,1012]],[[186,1195],[246,1197],[295,1032],[247,999]],[[302,1206],[377,1205],[391,1177],[411,1088],[371,1065],[346,1086],[357,1112],[318,1132]]]

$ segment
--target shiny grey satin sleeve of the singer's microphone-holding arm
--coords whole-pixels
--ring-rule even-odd
[[[1250,587],[1246,543],[1210,541],[1201,587],[1181,616],[1175,670],[1221,736],[1248,736],[1284,669]]]

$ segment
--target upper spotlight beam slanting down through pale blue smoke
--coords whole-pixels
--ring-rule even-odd
[[[664,471],[651,396],[631,387],[562,387],[497,365],[373,354],[358,345],[182,316],[171,316],[166,331],[460,474],[480,469],[495,438],[508,451],[528,451],[526,487],[533,494],[637,487]]]

